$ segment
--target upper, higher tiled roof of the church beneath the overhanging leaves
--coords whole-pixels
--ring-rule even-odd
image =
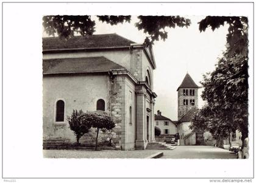
[[[124,47],[135,43],[116,33],[91,36],[74,36],[68,40],[59,37],[43,38],[43,50],[58,49],[95,49],[103,47]]]

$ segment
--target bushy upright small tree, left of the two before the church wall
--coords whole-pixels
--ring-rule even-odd
[[[87,120],[87,114],[82,110],[73,110],[71,116],[68,116],[67,119],[69,128],[74,131],[77,144],[79,144],[80,137],[84,136],[85,133],[88,133],[91,128],[91,123]]]

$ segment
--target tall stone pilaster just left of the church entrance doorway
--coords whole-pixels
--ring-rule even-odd
[[[135,140],[135,148],[144,150],[146,148],[145,94],[143,91],[138,91],[138,92],[136,92],[136,95],[137,95],[137,139]]]

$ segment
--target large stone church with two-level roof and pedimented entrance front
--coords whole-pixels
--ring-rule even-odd
[[[115,122],[100,131],[121,150],[154,142],[154,54],[151,47],[115,33],[43,38],[43,138],[76,142],[67,116],[73,109],[108,112]],[[93,142],[91,129],[80,140]]]

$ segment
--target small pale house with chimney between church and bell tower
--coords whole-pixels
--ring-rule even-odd
[[[155,114],[155,126],[160,128],[161,135],[174,136],[177,133],[176,122],[168,117],[162,116],[162,112],[159,110]]]

